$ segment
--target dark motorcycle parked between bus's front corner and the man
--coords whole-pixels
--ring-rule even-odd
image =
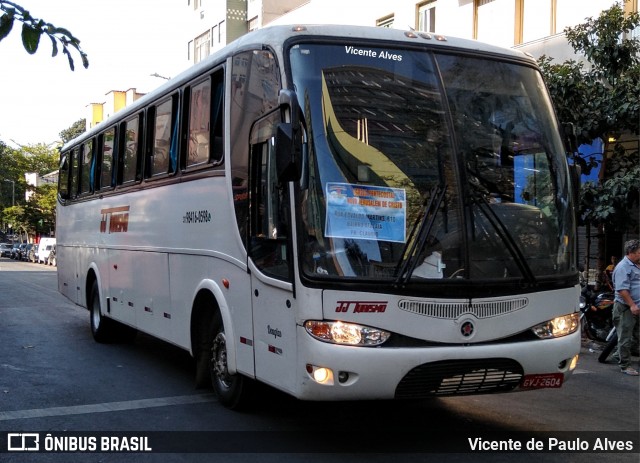
[[[615,334],[612,311],[613,293],[595,294],[585,286],[580,296],[580,323],[583,335],[593,341],[608,342],[612,330]]]

